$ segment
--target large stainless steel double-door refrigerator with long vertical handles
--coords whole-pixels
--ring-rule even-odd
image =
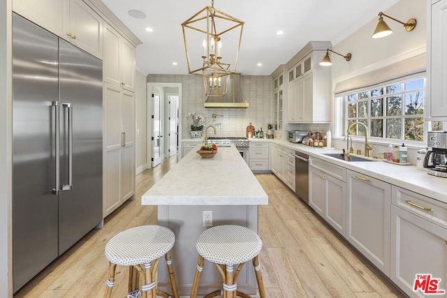
[[[13,291],[101,223],[102,61],[13,14]]]

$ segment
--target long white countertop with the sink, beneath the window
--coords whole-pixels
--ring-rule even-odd
[[[429,175],[426,171],[418,170],[416,165],[395,165],[380,160],[374,162],[348,162],[324,155],[341,153],[342,150],[340,149],[331,150],[309,147],[284,140],[272,140],[272,142],[447,203],[447,179]]]

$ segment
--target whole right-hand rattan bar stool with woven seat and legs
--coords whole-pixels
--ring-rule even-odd
[[[196,274],[191,288],[191,298],[196,298],[200,275],[203,270],[204,259],[213,262],[222,276],[223,290],[210,292],[203,298],[223,295],[223,298],[250,296],[237,290],[237,276],[239,276],[245,262],[252,260],[259,296],[265,298],[261,265],[258,254],[263,244],[258,234],[240,225],[217,225],[203,231],[196,240],[198,261]],[[233,274],[234,265],[237,269]]]

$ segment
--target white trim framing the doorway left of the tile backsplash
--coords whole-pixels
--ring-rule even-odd
[[[146,112],[146,125],[147,125],[147,137],[146,137],[146,161],[147,161],[147,167],[150,168],[152,167],[152,89],[154,87],[173,87],[173,88],[177,88],[178,90],[178,95],[179,95],[179,101],[178,101],[178,105],[179,105],[179,119],[178,119],[178,125],[179,125],[179,144],[181,144],[182,142],[182,117],[180,117],[180,115],[182,115],[182,83],[156,83],[156,82],[148,82],[147,83],[147,96],[146,96],[146,108],[147,108],[147,112]],[[168,103],[166,103],[166,98],[163,98],[163,103],[166,107],[166,105],[169,105]],[[164,121],[163,123],[166,123],[167,119],[165,119],[166,113],[164,113],[163,115],[161,115],[161,117],[163,117]],[[168,131],[166,131],[166,126],[164,127],[163,134],[168,135]],[[166,143],[166,139],[163,140],[163,142],[165,142],[165,156],[168,156],[168,146]]]

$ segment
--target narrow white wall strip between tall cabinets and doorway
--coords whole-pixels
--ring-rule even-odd
[[[136,71],[135,73],[135,121],[136,121],[136,147],[135,147],[135,169],[137,174],[147,167],[146,160],[146,104],[147,104],[146,76]],[[150,167],[150,165],[149,165]]]

